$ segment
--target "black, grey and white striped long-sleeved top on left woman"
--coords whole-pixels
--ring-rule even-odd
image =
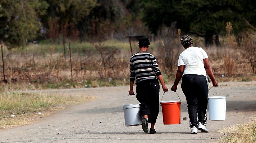
[[[130,81],[137,84],[142,80],[157,79],[161,75],[156,58],[148,52],[138,52],[130,59]]]

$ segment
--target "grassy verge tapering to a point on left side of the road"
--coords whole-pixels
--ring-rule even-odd
[[[56,110],[64,109],[67,105],[84,103],[92,99],[93,97],[87,95],[21,93],[6,89],[0,93],[0,129],[33,123]]]

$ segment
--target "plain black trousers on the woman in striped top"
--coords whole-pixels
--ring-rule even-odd
[[[143,80],[136,86],[136,98],[141,104],[141,116],[148,115],[148,123],[156,123],[159,113],[158,80]]]

